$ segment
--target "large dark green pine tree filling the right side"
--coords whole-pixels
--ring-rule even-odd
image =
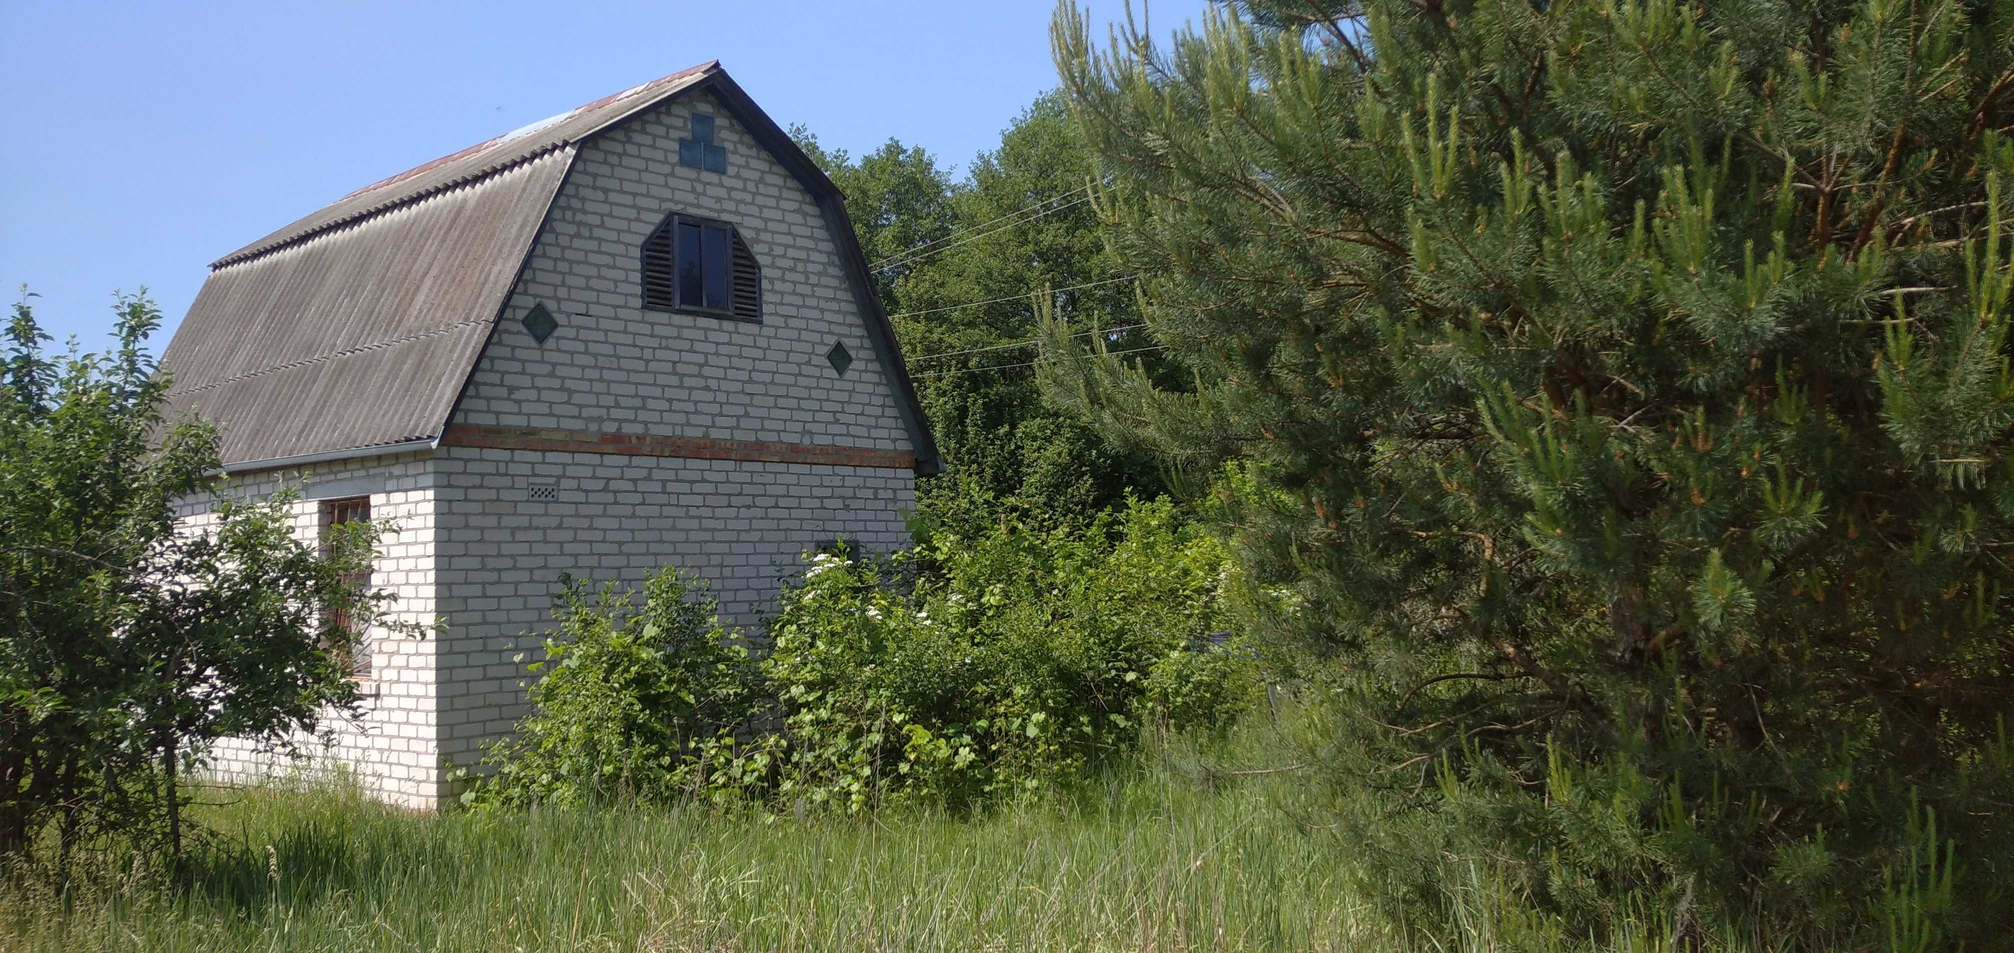
[[[1047,391],[1222,465],[1408,915],[2004,941],[2014,2],[1057,14],[1194,377]],[[1464,860],[1466,862],[1466,860]]]

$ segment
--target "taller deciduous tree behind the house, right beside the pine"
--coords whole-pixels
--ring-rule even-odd
[[[1164,490],[1148,455],[1045,403],[1029,367],[1043,308],[1075,332],[1138,324],[1132,280],[1090,203],[1092,161],[1061,99],[1035,99],[951,193],[961,232],[892,272],[896,312],[910,314],[896,318],[902,351],[928,375],[918,393],[953,471],[1021,510],[1080,522],[1126,494]],[[1114,349],[1140,341],[1136,330],[1100,336]],[[971,500],[947,490],[922,488],[918,508]]]

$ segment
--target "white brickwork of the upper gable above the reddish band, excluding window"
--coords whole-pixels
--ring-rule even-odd
[[[695,111],[715,117],[725,175],[677,161]],[[763,266],[763,324],[642,310],[638,250],[671,212],[741,230]],[[457,421],[620,423],[669,435],[910,449],[896,391],[838,262],[812,195],[725,109],[705,97],[661,107],[582,145]],[[544,345],[518,322],[534,302],[562,324]],[[834,343],[854,355],[846,377],[826,363]]]

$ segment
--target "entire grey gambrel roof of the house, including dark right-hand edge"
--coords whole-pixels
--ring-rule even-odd
[[[838,185],[707,62],[356,189],[211,264],[161,355],[169,415],[224,421],[226,469],[439,441],[580,143],[711,93],[812,193],[840,248],[916,469],[941,469]]]

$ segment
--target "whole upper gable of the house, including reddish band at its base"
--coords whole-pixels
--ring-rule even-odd
[[[679,161],[695,115],[725,171]],[[719,77],[582,141],[443,443],[932,471],[838,189],[777,137]],[[759,324],[644,308],[642,248],[671,214],[739,232]],[[534,308],[558,320],[544,341]]]

